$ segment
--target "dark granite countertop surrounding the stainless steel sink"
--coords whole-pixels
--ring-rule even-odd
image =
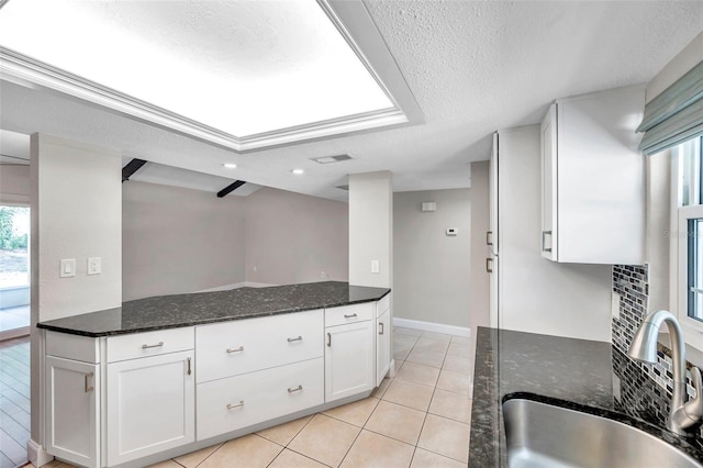
[[[620,385],[614,390],[613,382],[633,372],[628,361],[610,343],[479,327],[469,467],[507,466],[502,402],[515,397],[636,425],[703,461],[703,449],[694,436],[676,436],[660,421],[648,417],[647,410],[631,409],[621,401]]]

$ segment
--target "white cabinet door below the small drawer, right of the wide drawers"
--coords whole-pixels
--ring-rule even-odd
[[[325,328],[325,402],[375,387],[376,321]]]

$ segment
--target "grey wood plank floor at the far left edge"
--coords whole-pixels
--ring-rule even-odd
[[[0,342],[0,468],[26,463],[30,439],[30,337]]]

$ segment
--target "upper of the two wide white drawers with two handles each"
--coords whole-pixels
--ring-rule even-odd
[[[324,354],[322,310],[236,320],[196,328],[198,382]]]

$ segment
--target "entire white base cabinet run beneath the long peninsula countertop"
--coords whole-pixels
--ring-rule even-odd
[[[48,331],[46,450],[81,467],[137,466],[368,394],[389,368],[388,302],[100,338]]]

